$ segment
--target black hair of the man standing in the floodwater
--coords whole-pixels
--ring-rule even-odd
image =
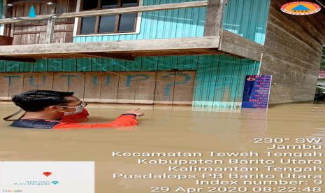
[[[73,96],[73,92],[29,90],[13,96],[11,100],[26,112],[37,112],[48,106],[66,105],[68,103],[66,96]]]

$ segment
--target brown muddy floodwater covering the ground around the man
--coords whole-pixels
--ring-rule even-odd
[[[138,106],[89,105],[87,106],[90,113],[89,122],[113,120],[124,110],[136,107]],[[112,152],[202,152],[203,157],[150,157],[150,159],[211,159],[205,152],[263,152],[270,146],[266,143],[254,143],[254,138],[290,138],[291,140],[286,141],[285,145],[297,145],[294,139],[301,137],[323,138],[320,145],[323,145],[325,140],[325,105],[323,104],[294,103],[271,106],[267,115],[254,111],[203,112],[196,111],[189,106],[139,107],[145,112],[145,116],[138,118],[139,125],[124,129],[16,129],[8,126],[10,122],[1,120],[0,160],[94,161],[97,193],[143,193],[150,192],[150,187],[154,186],[170,187],[173,190],[170,192],[175,192],[176,187],[200,187],[200,185],[195,185],[196,181],[193,179],[129,180],[113,179],[112,174],[201,174],[204,172],[168,171],[167,165],[138,164],[139,157],[113,157]],[[5,117],[15,110],[17,108],[10,103],[0,103],[0,117]],[[279,151],[305,152],[310,150]],[[324,153],[324,148],[317,151]],[[268,159],[269,157],[261,155],[258,158]],[[243,159],[257,159],[257,157],[243,157]],[[321,159],[324,162],[324,157]],[[287,164],[287,166],[294,165]],[[225,162],[223,166],[230,166],[230,164]],[[257,166],[257,164],[238,164],[238,166]],[[280,164],[274,164],[274,166],[280,166]],[[229,171],[217,173],[229,173]],[[240,171],[240,173],[256,172]],[[260,171],[259,173],[270,174],[278,173],[278,171]],[[324,174],[324,171],[321,173]],[[311,182],[308,185],[316,186]],[[278,186],[280,185],[273,185],[273,187]],[[319,186],[324,187],[324,183]]]

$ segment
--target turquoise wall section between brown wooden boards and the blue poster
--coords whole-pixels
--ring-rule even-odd
[[[238,108],[246,75],[259,73],[260,63],[219,55],[201,56],[196,70],[193,106]]]

